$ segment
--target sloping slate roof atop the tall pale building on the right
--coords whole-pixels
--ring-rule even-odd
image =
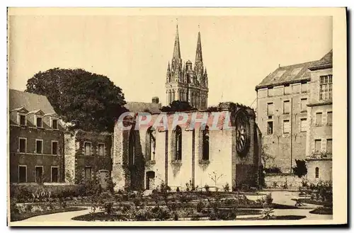
[[[278,67],[278,69],[275,69],[274,72],[268,74],[268,76],[266,76],[261,83],[256,86],[256,91],[264,87],[292,84],[299,81],[309,81],[309,69],[311,69],[311,67],[321,67],[326,64],[331,64],[331,62],[332,50],[317,61]]]

